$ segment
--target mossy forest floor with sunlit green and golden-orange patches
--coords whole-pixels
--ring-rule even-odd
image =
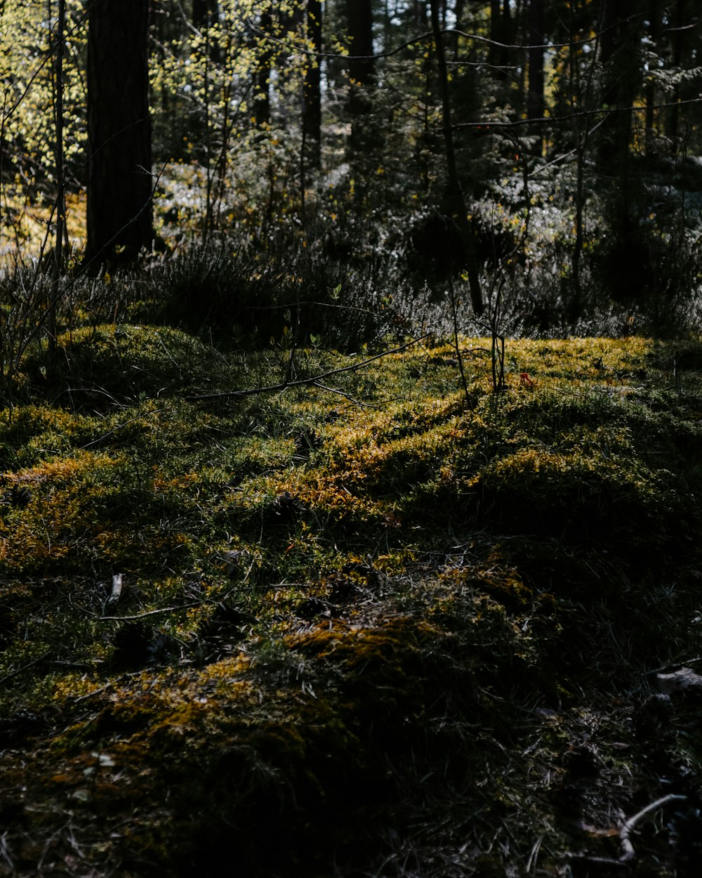
[[[497,393],[479,339],[49,356],[0,412],[0,874],[699,874],[700,342],[508,341]]]

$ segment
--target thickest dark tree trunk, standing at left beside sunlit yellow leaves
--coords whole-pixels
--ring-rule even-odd
[[[88,35],[88,243],[93,264],[154,238],[148,0],[95,0]]]

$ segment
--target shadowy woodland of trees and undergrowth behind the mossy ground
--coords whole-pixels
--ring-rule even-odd
[[[698,325],[689,0],[0,17],[5,375],[79,300],[340,348],[484,309],[503,334]]]

